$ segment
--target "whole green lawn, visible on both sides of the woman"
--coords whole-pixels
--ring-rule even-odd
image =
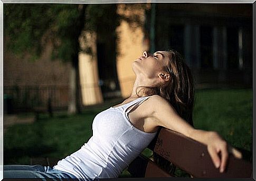
[[[231,145],[252,150],[252,89],[197,90],[195,100],[196,128],[215,130]],[[4,164],[30,164],[31,157],[68,156],[88,141],[94,116],[110,105],[91,106],[79,115],[41,115],[33,124],[8,128]]]

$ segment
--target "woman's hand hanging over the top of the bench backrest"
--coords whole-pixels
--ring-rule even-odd
[[[220,169],[220,173],[223,173],[226,168],[229,153],[233,154],[236,158],[242,158],[242,154],[227,144],[216,132],[207,133],[205,144],[207,145],[207,150],[212,158],[213,164],[216,168]]]

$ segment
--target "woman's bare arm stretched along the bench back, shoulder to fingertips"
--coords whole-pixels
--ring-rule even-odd
[[[242,154],[235,148],[227,145],[225,140],[216,132],[195,129],[189,125],[164,98],[154,95],[151,97],[151,100],[154,103],[153,117],[157,120],[157,126],[175,130],[178,133],[205,144],[213,164],[216,168],[220,169],[221,173],[225,170],[229,152],[236,158],[242,158]]]

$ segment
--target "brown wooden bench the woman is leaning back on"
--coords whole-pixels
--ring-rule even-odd
[[[252,163],[249,160],[236,159],[230,155],[226,170],[221,174],[213,165],[204,144],[166,128],[160,129],[148,148],[173,169],[167,172],[163,166],[140,154],[128,167],[132,177],[176,177],[175,167],[191,177],[252,177]]]

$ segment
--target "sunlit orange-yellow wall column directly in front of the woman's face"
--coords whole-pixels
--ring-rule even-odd
[[[118,4],[118,14],[131,18],[137,15],[144,24],[145,11],[139,8],[125,8],[124,4]],[[122,20],[117,27],[117,73],[122,97],[129,97],[136,76],[132,71],[132,63],[143,54],[148,44],[143,44],[144,29],[142,26],[131,28],[129,23]]]

